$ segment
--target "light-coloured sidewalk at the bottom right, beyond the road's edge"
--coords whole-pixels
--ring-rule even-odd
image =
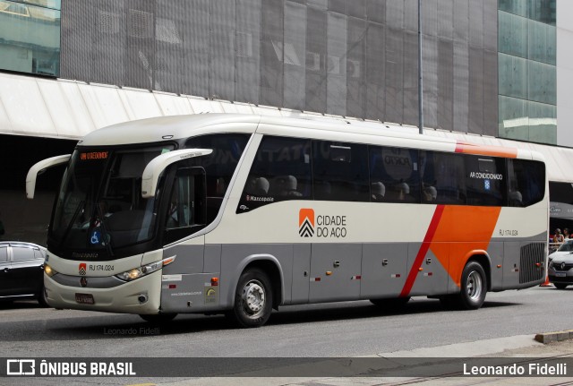
[[[567,334],[566,334],[567,333]],[[373,356],[355,358],[324,358],[321,361],[301,365],[286,365],[278,373],[288,376],[266,376],[268,373],[243,373],[238,377],[194,378],[184,381],[158,383],[171,386],[374,386],[374,385],[554,385],[573,382],[573,339],[569,339],[569,331],[546,333],[538,336],[538,340],[552,341],[540,343],[534,336],[516,336],[501,339],[486,339],[469,343],[459,343],[442,347],[420,348],[412,351],[380,353]],[[566,339],[567,337],[567,339]],[[560,341],[556,339],[560,338]],[[573,338],[573,336],[571,337]],[[457,359],[451,359],[457,358]],[[495,358],[495,359],[492,359]],[[501,359],[500,359],[501,358]],[[512,358],[516,358],[515,360]],[[529,359],[528,359],[529,358]],[[509,364],[527,366],[531,358],[552,358],[552,363],[566,363],[567,376],[471,376],[461,373],[462,362],[488,363],[501,361]],[[253,358],[256,360],[256,358]],[[446,362],[444,362],[446,361]],[[452,361],[456,362],[452,365]],[[536,362],[536,361],[534,361]],[[571,363],[569,363],[571,362]],[[436,376],[427,375],[424,367],[430,363]],[[412,365],[413,364],[413,365]],[[443,364],[443,365],[442,365]],[[338,366],[338,367],[333,367]],[[321,368],[329,370],[336,368],[333,373],[347,373],[348,376],[302,376],[306,373],[321,373]],[[417,369],[417,370],[416,370]],[[422,369],[422,370],[421,370]],[[452,369],[455,369],[452,371]],[[385,376],[390,371],[392,376]],[[422,375],[420,375],[422,371]],[[355,374],[375,374],[381,376],[354,376]],[[416,374],[417,373],[417,374]],[[293,376],[290,376],[293,374]],[[433,373],[432,373],[433,374]],[[570,374],[570,375],[569,375]],[[261,376],[262,375],[262,376]],[[299,376],[301,375],[301,376]],[[458,376],[453,376],[458,375]]]

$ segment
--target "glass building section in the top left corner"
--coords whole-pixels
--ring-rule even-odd
[[[0,69],[58,76],[60,0],[0,0]]]

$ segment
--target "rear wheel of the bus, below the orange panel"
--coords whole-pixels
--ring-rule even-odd
[[[479,262],[468,262],[462,271],[461,291],[456,302],[462,310],[477,310],[485,301],[487,279]]]

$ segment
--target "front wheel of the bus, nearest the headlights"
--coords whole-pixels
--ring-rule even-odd
[[[259,269],[245,270],[235,289],[235,305],[229,313],[244,328],[261,327],[272,313],[269,276]]]

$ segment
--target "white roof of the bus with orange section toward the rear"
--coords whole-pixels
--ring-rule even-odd
[[[356,121],[344,118],[257,116],[247,114],[198,114],[158,116],[107,126],[87,134],[79,146],[127,145],[179,140],[207,133],[263,133],[298,136],[339,142],[387,144],[428,150],[444,150],[507,158],[543,159],[531,150],[517,150],[459,142],[435,135],[419,134],[417,128]]]

